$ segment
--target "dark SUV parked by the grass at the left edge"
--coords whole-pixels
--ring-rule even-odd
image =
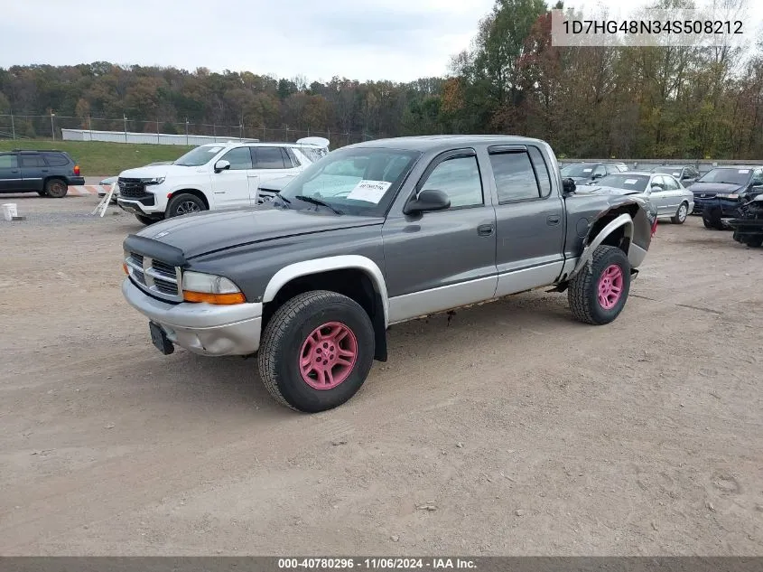
[[[0,193],[37,192],[60,199],[70,184],[85,184],[85,178],[68,153],[56,149],[0,153]]]

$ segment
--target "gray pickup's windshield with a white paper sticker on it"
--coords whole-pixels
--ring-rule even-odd
[[[279,193],[289,208],[314,208],[317,199],[345,214],[382,216],[416,160],[414,151],[339,149],[308,166]]]

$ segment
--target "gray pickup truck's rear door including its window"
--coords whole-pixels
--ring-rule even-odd
[[[489,147],[498,205],[496,295],[551,284],[562,271],[564,210],[535,145]]]

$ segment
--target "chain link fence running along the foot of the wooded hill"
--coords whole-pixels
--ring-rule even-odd
[[[332,131],[329,128],[312,129],[311,127],[295,129],[293,127],[266,127],[256,125],[216,125],[195,123],[192,121],[144,121],[129,117],[70,117],[51,115],[0,115],[0,139],[53,139],[62,138],[61,129],[87,129],[88,131],[110,131],[126,135],[129,133],[167,134],[174,136],[211,136],[219,138],[259,139],[261,141],[293,143],[302,137],[325,137],[330,141],[330,148],[335,149],[344,145],[360,143],[377,138],[367,133]],[[174,139],[177,140],[177,137]],[[181,141],[181,138],[180,138]],[[157,137],[156,143],[162,143]]]

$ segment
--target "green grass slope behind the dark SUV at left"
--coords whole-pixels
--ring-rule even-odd
[[[11,149],[59,149],[79,164],[82,176],[111,176],[125,169],[142,167],[155,161],[174,161],[193,145],[151,145],[106,143],[102,141],[51,141],[17,139],[0,141],[0,151]]]

